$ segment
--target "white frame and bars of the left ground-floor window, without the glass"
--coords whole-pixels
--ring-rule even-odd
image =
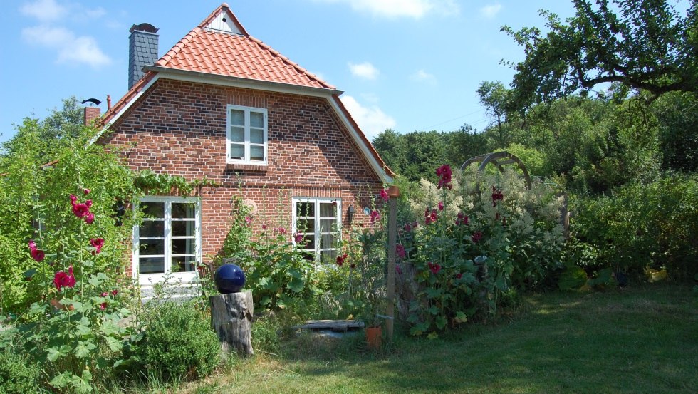
[[[192,271],[172,272],[172,257],[190,256],[191,254],[172,254],[172,203],[193,203],[194,204],[194,255],[196,263],[202,261],[202,242],[201,242],[201,199],[197,197],[169,197],[169,196],[146,196],[141,197],[135,204],[134,209],[138,209],[140,202],[161,202],[165,204],[164,209],[164,224],[165,224],[165,253],[160,255],[148,255],[152,257],[162,256],[164,259],[164,271],[154,274],[140,274],[140,227],[136,224],[133,226],[133,256],[132,266],[133,275],[137,277],[139,284],[150,284],[165,281],[167,276],[175,280],[181,280],[182,283],[192,283],[197,279],[197,269],[194,267]],[[176,221],[177,219],[175,219]],[[156,238],[156,237],[154,237]],[[144,239],[146,239],[144,237]]]

